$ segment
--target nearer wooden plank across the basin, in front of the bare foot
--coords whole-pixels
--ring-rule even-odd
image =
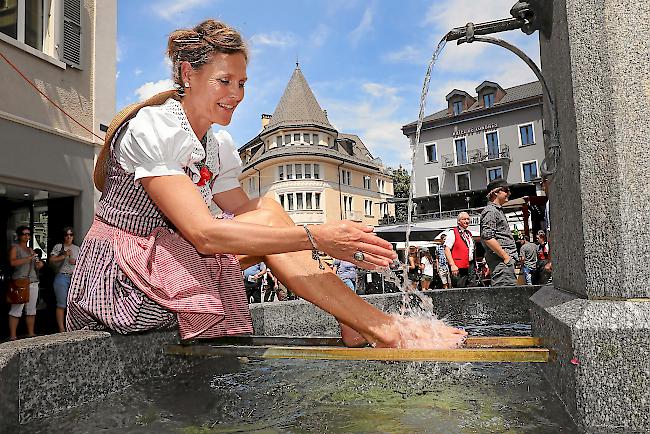
[[[262,359],[395,360],[431,362],[534,362],[548,361],[545,348],[458,348],[452,350],[280,347],[243,345],[168,345],[167,354],[234,356]]]

